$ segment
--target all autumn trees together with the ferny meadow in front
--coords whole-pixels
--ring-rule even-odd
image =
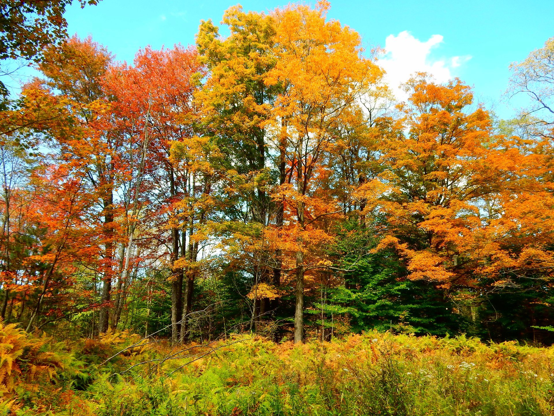
[[[325,0],[132,63],[70,4],[0,0],[0,415],[554,414],[554,38],[501,119]]]

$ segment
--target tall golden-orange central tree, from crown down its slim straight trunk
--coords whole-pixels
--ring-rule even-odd
[[[329,3],[319,2],[315,9],[291,6],[273,13],[277,62],[265,80],[283,89],[272,111],[272,127],[276,148],[285,149],[288,179],[275,199],[285,201],[287,233],[296,243],[295,342],[304,337],[304,275],[314,267],[306,267],[306,242],[329,239],[324,229],[316,231],[316,221],[341,212],[320,184],[338,132],[360,124],[358,98],[382,77],[381,69],[362,57],[356,32],[325,21],[328,9]]]

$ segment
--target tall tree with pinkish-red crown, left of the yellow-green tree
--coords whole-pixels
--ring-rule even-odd
[[[115,98],[114,111],[120,120],[125,120],[130,140],[139,132],[144,135],[145,163],[130,185],[135,202],[130,204],[132,199],[127,196],[125,210],[133,211],[129,219],[133,230],[133,224],[141,214],[142,238],[147,238],[151,245],[146,251],[157,251],[158,257],[168,254],[169,258],[164,261],[166,264],[169,261],[172,270],[174,342],[178,341],[179,322],[183,319],[183,270],[174,264],[179,257],[188,255],[191,260],[196,258],[193,252],[197,250],[190,238],[194,233],[194,217],[179,216],[175,204],[196,192],[194,187],[197,185],[195,171],[188,166],[177,169],[183,166],[176,165],[171,159],[171,148],[174,143],[194,142],[196,108],[193,93],[197,90],[198,78],[202,78],[203,74],[196,49],[176,45],[173,49],[153,50],[148,47],[139,51],[134,67],[120,68],[109,79]],[[139,206],[137,202],[140,202]],[[129,235],[132,239],[131,232]],[[162,243],[161,247],[155,244],[156,240]],[[127,283],[123,282],[124,285]],[[187,280],[185,308],[189,308],[187,299],[192,295],[191,285],[192,281]]]

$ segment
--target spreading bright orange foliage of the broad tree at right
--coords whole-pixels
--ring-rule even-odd
[[[404,118],[379,143],[382,185],[358,191],[369,190],[366,211],[387,218],[377,249],[395,248],[410,278],[443,287],[501,270],[544,265],[548,272],[543,247],[552,242],[554,205],[551,185],[541,182],[545,160],[529,143],[494,136],[483,109],[466,113],[473,96],[459,80],[416,78],[407,89],[410,105],[399,106]]]

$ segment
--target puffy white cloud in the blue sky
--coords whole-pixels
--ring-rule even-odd
[[[379,65],[386,70],[385,80],[399,100],[406,100],[407,94],[399,89],[416,72],[427,72],[437,82],[447,82],[455,77],[454,68],[460,67],[471,59],[470,56],[455,56],[451,58],[432,59],[433,48],[443,42],[442,35],[434,34],[422,42],[408,31],[397,36],[391,34],[385,40],[385,54],[379,60]]]

